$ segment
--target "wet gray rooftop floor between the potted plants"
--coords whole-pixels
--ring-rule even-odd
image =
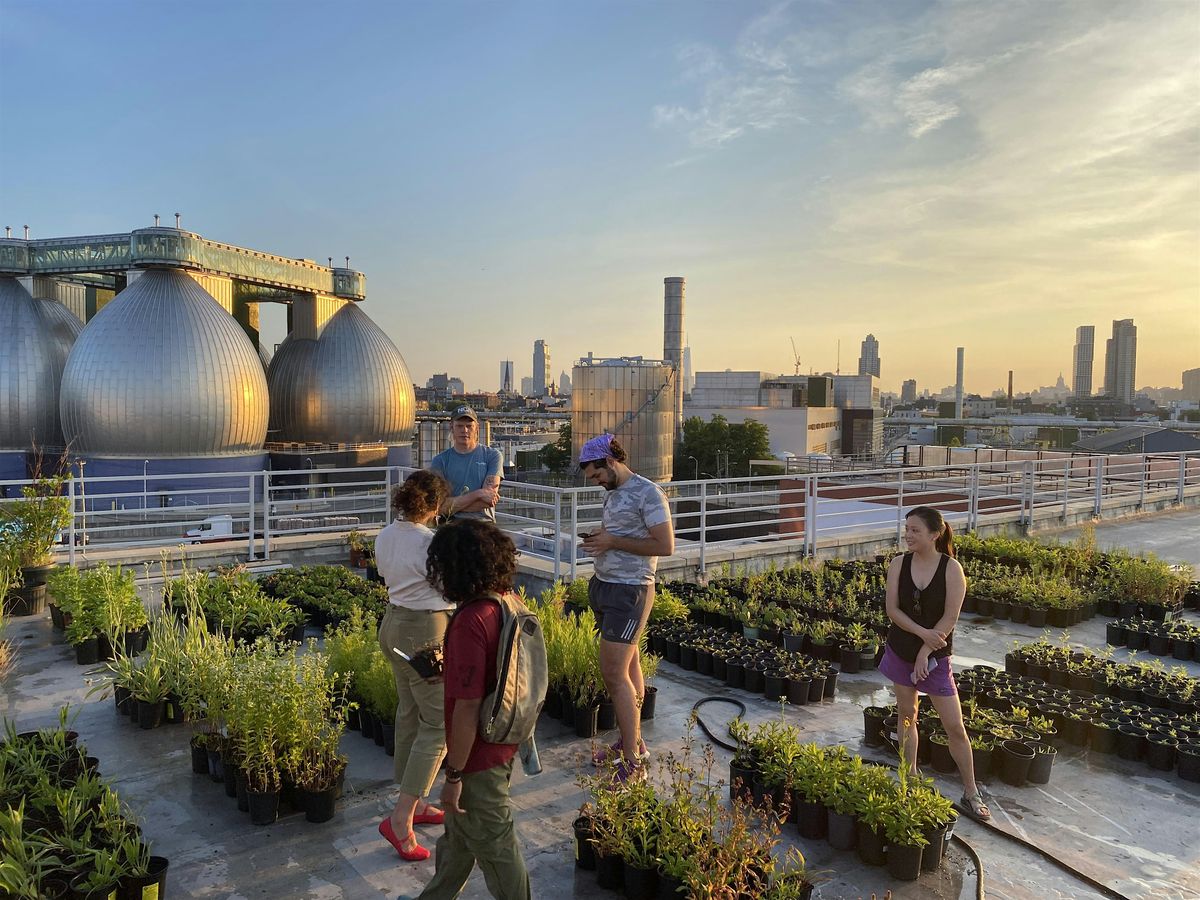
[[[1097,527],[1102,546],[1120,544],[1152,550],[1172,562],[1200,566],[1200,512],[1186,511]],[[1069,538],[1070,534],[1064,534]],[[1196,622],[1195,613],[1188,613]],[[1108,619],[1096,617],[1070,629],[1073,644],[1104,647]],[[1052,631],[1052,630],[1051,630]],[[1042,632],[1010,622],[964,616],[956,632],[956,667],[979,662],[1003,665],[1014,640],[1037,638]],[[113,779],[122,798],[142,814],[144,830],[155,852],[170,862],[172,898],[257,896],[390,898],[416,894],[431,877],[433,863],[400,863],[376,827],[390,809],[391,760],[372,742],[347,734],[349,755],[347,791],[338,812],[324,824],[308,824],[302,816],[282,818],[256,828],[238,812],[220,785],[193,775],[187,731],[167,726],[140,731],[119,718],[110,700],[85,698],[89,678],[74,665],[70,648],[52,632],[49,618],[14,620],[8,637],[18,648],[16,671],[5,685],[0,713],[16,718],[22,730],[52,725],[64,703],[78,708],[73,727],[89,751],[101,760],[101,770]],[[1127,658],[1122,648],[1115,659]],[[1200,664],[1187,665],[1200,676]],[[679,748],[692,704],[707,696],[727,696],[748,707],[748,719],[762,721],[780,715],[780,708],[762,697],[731,691],[710,678],[664,664],[656,718],[646,737],[652,749]],[[860,708],[888,703],[890,690],[877,672],[839,678],[834,701],[787,708],[782,715],[802,730],[806,740],[841,743],[868,758],[886,758],[862,744]],[[704,708],[709,727],[722,734],[732,708]],[[702,736],[697,734],[702,739]],[[611,738],[610,738],[611,739]],[[595,886],[592,872],[576,871],[570,823],[583,802],[576,774],[586,766],[590,743],[575,738],[559,722],[539,727],[544,774],[514,778],[514,803],[520,839],[528,859],[535,896],[613,896]],[[716,769],[727,773],[727,751],[716,750]],[[956,776],[937,775],[938,786],[956,798]],[[438,788],[434,788],[436,791]],[[1200,841],[1195,812],[1200,785],[1174,773],[1159,773],[1144,763],[1114,756],[1088,756],[1085,750],[1060,751],[1050,784],[1009,787],[998,779],[986,782],[996,826],[1019,835],[1092,878],[1128,898],[1200,898]],[[437,828],[420,836],[432,848]],[[983,859],[989,898],[1100,898],[1103,893],[1078,881],[1037,854],[970,821],[956,834]],[[976,895],[974,866],[952,846],[942,869],[912,883],[893,882],[883,869],[863,866],[853,852],[836,852],[823,841],[805,841],[793,827],[787,841],[804,852],[810,866],[826,880],[817,898],[882,896],[971,898]],[[476,871],[464,898],[486,898]]]

